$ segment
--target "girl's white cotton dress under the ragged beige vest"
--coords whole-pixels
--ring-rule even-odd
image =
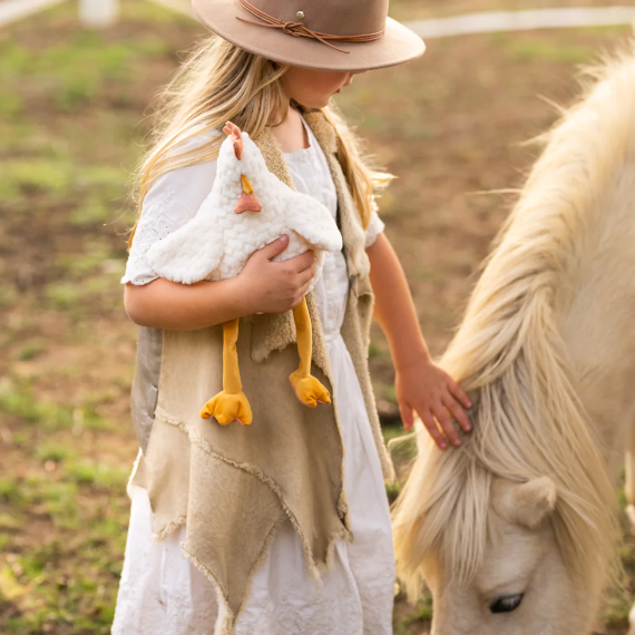
[[[294,186],[335,215],[338,197],[326,159],[305,127],[310,147],[285,154]],[[207,162],[157,179],[144,202],[121,282],[146,284],[157,277],[145,258],[148,247],[196,214],[215,170],[216,162]],[[383,223],[373,215],[367,245],[382,229]],[[237,635],[392,633],[394,558],[388,500],[362,391],[340,334],[348,284],[343,254],[328,254],[314,293],[338,395],[354,541],[338,543],[332,568],[321,580],[311,580],[305,576],[300,538],[291,522],[283,524],[254,575]],[[129,495],[130,525],[113,635],[213,635],[216,594],[212,583],[182,555],[185,528],[163,541],[153,540],[146,490],[133,486]]]

